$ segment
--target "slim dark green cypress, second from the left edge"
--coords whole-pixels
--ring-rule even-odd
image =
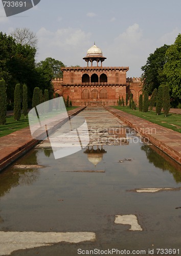
[[[21,87],[17,83],[14,90],[14,120],[19,121],[21,117]]]

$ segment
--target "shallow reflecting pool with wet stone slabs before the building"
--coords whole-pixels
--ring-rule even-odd
[[[47,140],[0,174],[0,255],[179,255],[180,165],[102,108],[79,115],[83,150],[55,160]]]

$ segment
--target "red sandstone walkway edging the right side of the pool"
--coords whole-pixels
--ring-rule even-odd
[[[181,134],[154,124],[143,118],[125,113],[121,110],[105,107],[110,113],[120,118],[123,122],[149,139],[156,147],[181,164]],[[152,130],[156,131],[152,133]]]

